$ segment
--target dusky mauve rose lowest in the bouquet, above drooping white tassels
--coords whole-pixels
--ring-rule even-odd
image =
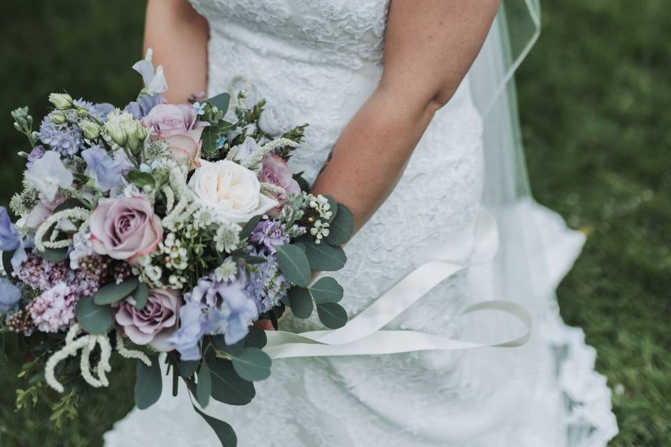
[[[126,298],[115,314],[117,323],[135,344],[149,344],[159,351],[169,351],[168,338],[177,330],[180,296],[175,291],[150,288],[144,309],[135,307],[133,298]]]

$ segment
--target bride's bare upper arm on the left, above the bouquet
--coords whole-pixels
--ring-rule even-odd
[[[168,80],[166,100],[184,103],[205,91],[208,76],[208,21],[187,0],[149,0],[145,19],[145,51],[154,50]]]

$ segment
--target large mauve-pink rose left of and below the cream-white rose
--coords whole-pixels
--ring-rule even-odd
[[[91,214],[91,246],[97,254],[135,263],[163,238],[161,219],[141,197],[101,199]]]

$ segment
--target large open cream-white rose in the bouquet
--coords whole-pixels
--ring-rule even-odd
[[[261,193],[256,174],[229,160],[201,161],[189,186],[217,217],[233,223],[246,223],[278,205],[277,201]]]

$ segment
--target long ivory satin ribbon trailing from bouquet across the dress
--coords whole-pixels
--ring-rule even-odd
[[[475,247],[470,261],[457,263],[445,258],[449,250],[434,250],[432,261],[420,265],[377,298],[372,305],[345,326],[335,330],[314,330],[295,334],[266,331],[268,344],[264,351],[271,358],[362,356],[410,351],[454,351],[482,347],[512,347],[526,343],[531,335],[532,318],[524,307],[510,301],[478,302],[462,315],[482,310],[497,310],[516,316],[524,323],[525,332],[514,339],[491,344],[466,342],[412,330],[384,330],[384,326],[412,306],[443,280],[471,265],[487,263],[498,251],[496,220],[483,212],[475,228]]]

